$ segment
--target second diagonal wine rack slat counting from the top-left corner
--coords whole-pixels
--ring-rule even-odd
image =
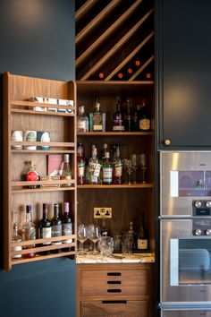
[[[95,28],[97,28],[97,25],[100,21],[103,21],[112,11],[114,8],[120,4],[122,0],[112,0],[109,4],[105,6],[105,8],[97,14],[97,16],[92,20],[89,21],[89,24],[85,26],[83,30],[80,30],[80,33],[76,35],[75,43],[76,45],[85,37],[89,35],[89,32]]]

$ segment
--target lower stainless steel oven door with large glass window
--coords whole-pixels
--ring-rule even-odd
[[[192,219],[161,220],[161,303],[211,301],[211,237]]]

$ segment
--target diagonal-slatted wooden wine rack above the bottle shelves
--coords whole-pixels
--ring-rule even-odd
[[[152,0],[79,0],[75,21],[77,80],[153,79]]]

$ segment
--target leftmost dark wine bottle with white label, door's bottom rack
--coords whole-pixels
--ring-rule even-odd
[[[38,236],[39,239],[46,239],[51,238],[52,236],[52,228],[51,228],[51,221],[47,218],[48,216],[48,209],[47,204],[43,204],[43,218],[38,222]],[[51,242],[44,242],[43,245],[49,245]],[[50,251],[44,251],[41,254],[48,255]]]

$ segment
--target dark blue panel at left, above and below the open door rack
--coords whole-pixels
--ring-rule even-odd
[[[2,73],[63,81],[75,78],[74,5],[74,0],[0,0],[0,126],[4,120]],[[2,130],[0,140],[2,147]],[[2,154],[0,168],[2,175]],[[3,193],[2,182],[0,186]],[[0,317],[76,316],[75,261],[38,261],[7,272],[3,245],[0,212]]]

